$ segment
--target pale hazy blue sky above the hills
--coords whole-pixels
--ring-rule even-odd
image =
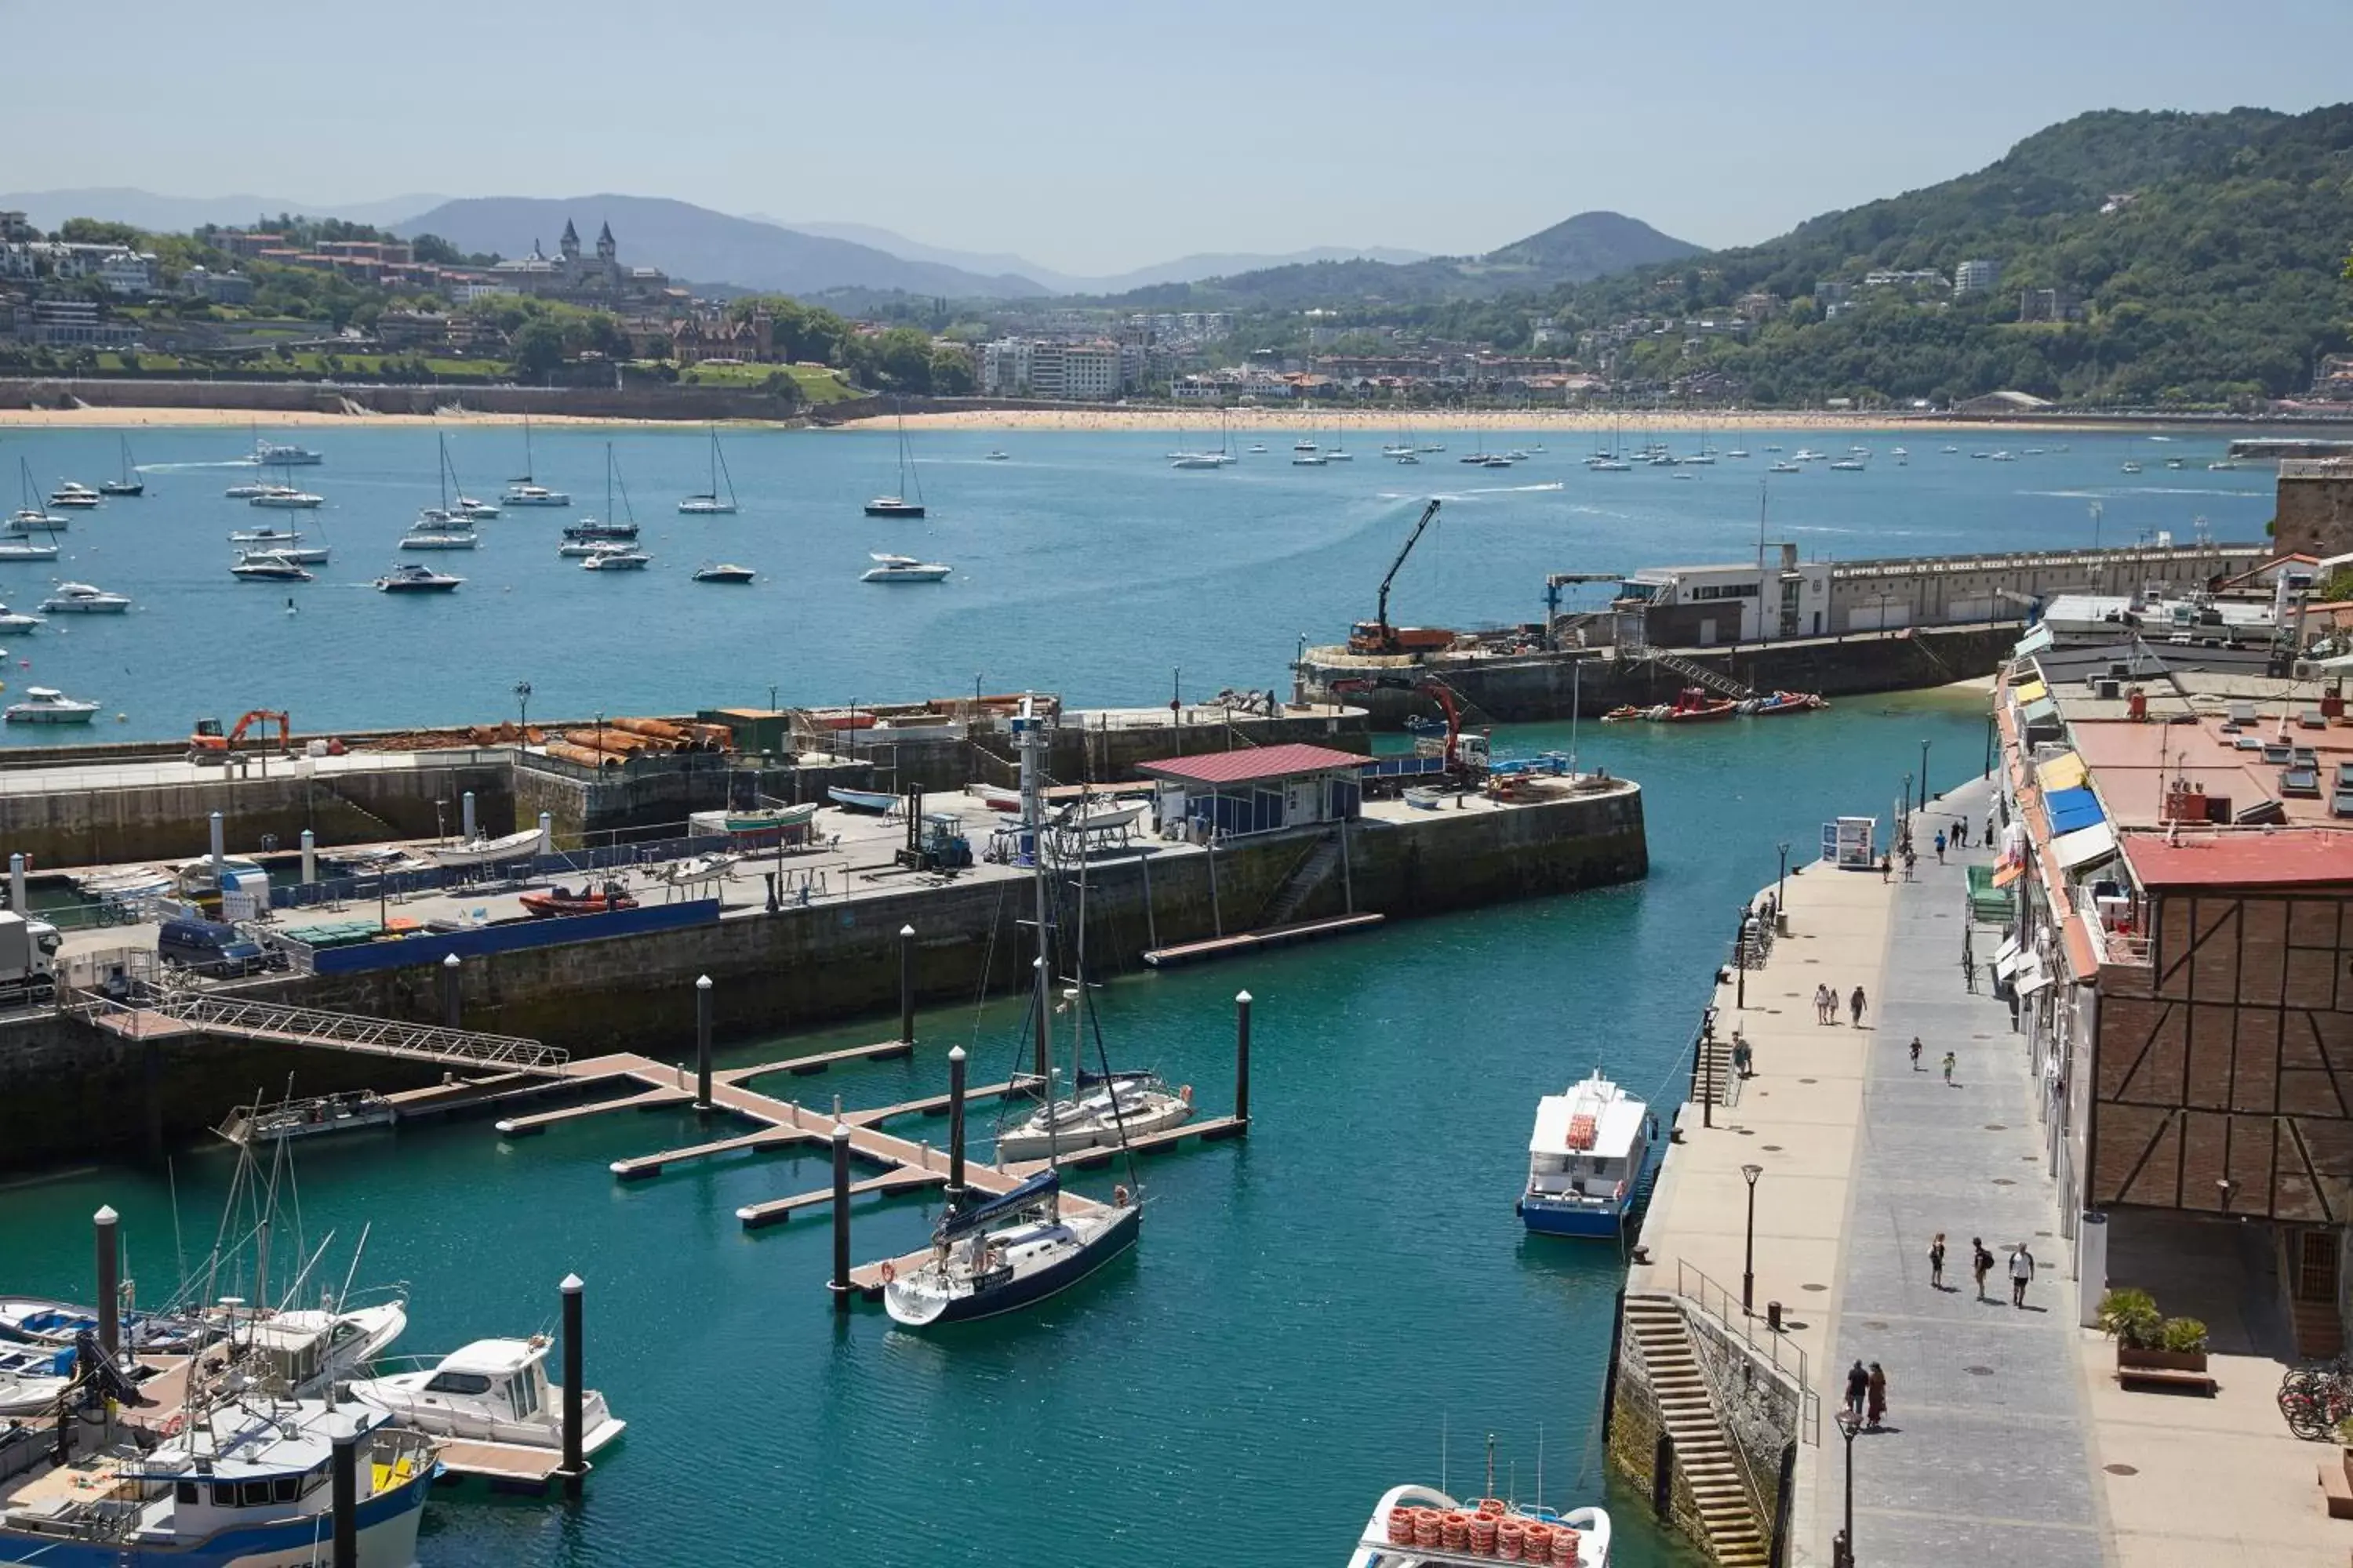
[[[2348,0],[0,0],[0,190],[621,190],[1073,273],[1588,207],[1739,244],[2087,108],[2353,94]]]

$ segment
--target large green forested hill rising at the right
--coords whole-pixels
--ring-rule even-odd
[[[2353,103],[2306,115],[2104,110],[2038,132],[1977,174],[1824,214],[1765,244],[1572,284],[1551,303],[1569,324],[1607,327],[1729,315],[1746,296],[1746,315],[1767,317],[1746,341],[1640,336],[1617,371],[1713,369],[1755,402],[1995,388],[2228,402],[2304,390],[2315,360],[2346,348],[2348,252]],[[1873,270],[1953,280],[1962,261],[1998,263],[2000,282],[1965,296],[1864,282]]]

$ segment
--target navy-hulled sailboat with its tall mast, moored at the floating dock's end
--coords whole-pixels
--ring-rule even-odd
[[[1014,741],[1021,748],[1021,813],[1033,835],[1035,891],[1038,891],[1038,985],[1031,999],[1035,1006],[1040,1051],[1047,1037],[1047,964],[1052,961],[1052,926],[1047,924],[1047,882],[1042,837],[1040,773],[1045,766],[1045,729],[1031,698],[1021,701],[1014,719]],[[1085,898],[1085,860],[1080,860],[1080,898]],[[1080,919],[1085,929],[1085,919]],[[1087,978],[1078,964],[1078,1006],[1073,1013],[1073,1046],[1085,1046]],[[1078,1070],[1073,1051],[1073,1072]],[[1075,1081],[1075,1079],[1073,1079]],[[925,1265],[885,1281],[882,1307],[892,1321],[911,1328],[929,1324],[960,1324],[1005,1312],[1019,1312],[1042,1302],[1059,1291],[1075,1286],[1129,1246],[1144,1222],[1141,1199],[1127,1187],[1113,1190],[1108,1204],[1064,1199],[1061,1147],[1052,1140],[1047,1168],[1028,1175],[1009,1192],[948,1208],[932,1227],[932,1255]]]

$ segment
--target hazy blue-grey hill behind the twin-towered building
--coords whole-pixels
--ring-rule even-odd
[[[624,263],[656,266],[692,282],[781,294],[826,289],[904,289],[955,299],[1047,294],[1045,287],[1012,273],[981,275],[936,261],[906,261],[871,244],[795,233],[652,195],[466,197],[419,212],[395,228],[405,235],[440,235],[464,252],[522,256],[534,240],[553,254],[567,219],[584,240],[593,240],[600,223],[612,223]]]

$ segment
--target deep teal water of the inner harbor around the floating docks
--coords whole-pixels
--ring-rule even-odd
[[[1518,750],[1567,738],[1504,733]],[[1254,1131],[1146,1161],[1136,1253],[1021,1319],[936,1338],[868,1307],[838,1321],[826,1220],[758,1237],[734,1220],[736,1204],[826,1185],[814,1159],[612,1180],[609,1159],[694,1143],[689,1114],[609,1114],[513,1145],[471,1121],[301,1150],[311,1241],[334,1227],[348,1244],[372,1222],[362,1281],[412,1286],[400,1349],[548,1326],[555,1281],[576,1269],[591,1385],[631,1422],[576,1509],[435,1502],[424,1561],[1339,1563],[1381,1490],[1438,1481],[1440,1434],[1457,1493],[1475,1490],[1494,1432],[1520,1495],[1541,1434],[1546,1500],[1600,1497],[1621,1272],[1609,1251],[1520,1234],[1534,1100],[1595,1063],[1671,1095],[1774,844],[1802,860],[1826,818],[1885,811],[1920,741],[1932,778],[1953,783],[1984,757],[1984,715],[1925,696],[1701,731],[1584,726],[1586,764],[1647,788],[1649,882],[1118,978],[1104,992],[1113,1058],[1195,1084],[1209,1112],[1231,1095],[1231,997],[1257,994]],[[920,1027],[915,1063],[767,1088],[880,1105],[944,1088],[948,1041],[969,1041],[984,1077],[1021,1048],[998,1006]],[[675,1037],[642,1048],[689,1053],[685,997]],[[774,1041],[729,1051],[769,1056]],[[214,1150],[176,1161],[191,1253],[209,1244],[228,1168]],[[87,1295],[99,1204],[125,1213],[144,1286],[176,1272],[169,1185],[104,1168],[0,1190],[0,1291]],[[866,1199],[854,1225],[859,1258],[908,1251],[927,1208]],[[1692,1561],[1640,1500],[1609,1505],[1619,1563]]]

